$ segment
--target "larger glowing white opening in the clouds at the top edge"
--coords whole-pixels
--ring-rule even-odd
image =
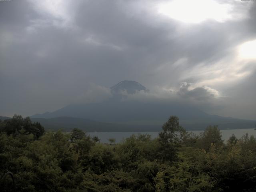
[[[158,6],[158,12],[187,23],[200,23],[208,19],[225,22],[232,18],[231,5],[214,0],[173,0]]]

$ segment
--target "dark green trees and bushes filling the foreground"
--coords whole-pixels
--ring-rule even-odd
[[[195,136],[171,116],[159,137],[131,136],[102,144],[82,130],[44,132],[14,116],[0,122],[0,179],[11,172],[16,191],[254,192],[256,139],[224,143],[217,126]],[[0,191],[12,191],[11,174]]]

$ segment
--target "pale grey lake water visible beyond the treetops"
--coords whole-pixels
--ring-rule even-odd
[[[236,138],[241,138],[243,135],[248,133],[248,136],[254,135],[256,136],[256,130],[254,129],[229,129],[229,130],[220,130],[222,134],[222,139],[225,141],[234,134]],[[202,131],[191,131],[192,133],[199,135]],[[100,142],[109,143],[109,138],[115,138],[116,143],[121,142],[125,138],[130,137],[132,134],[150,134],[151,138],[156,138],[159,132],[88,132],[90,136],[98,136],[100,138]]]

